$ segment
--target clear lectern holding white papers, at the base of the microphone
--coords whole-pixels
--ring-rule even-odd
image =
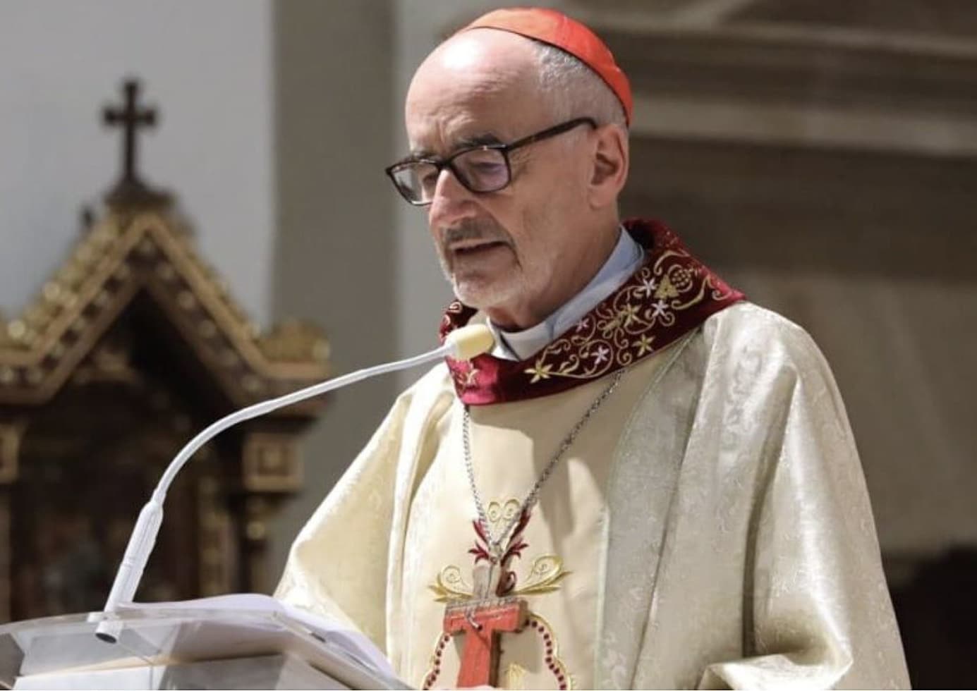
[[[112,621],[116,642],[96,636]],[[0,627],[11,689],[404,689],[344,641],[287,614],[140,607]]]

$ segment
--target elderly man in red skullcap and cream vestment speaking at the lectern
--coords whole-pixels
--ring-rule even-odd
[[[620,223],[631,104],[547,10],[417,70],[388,174],[458,298],[443,334],[496,345],[404,392],[277,595],[425,688],[906,686],[828,365],[662,224]]]

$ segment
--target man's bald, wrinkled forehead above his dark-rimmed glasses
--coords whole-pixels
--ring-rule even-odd
[[[413,153],[510,141],[544,120],[531,41],[476,29],[448,39],[414,74],[405,123]]]

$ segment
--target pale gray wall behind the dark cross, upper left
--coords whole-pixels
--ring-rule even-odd
[[[260,322],[274,220],[271,3],[0,4],[0,310],[12,318],[64,261],[83,204],[120,168],[101,124],[126,76],[160,106],[141,137],[149,183],[175,192],[199,246]]]

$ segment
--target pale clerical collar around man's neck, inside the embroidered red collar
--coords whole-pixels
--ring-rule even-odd
[[[487,320],[495,337],[491,354],[503,360],[525,360],[551,344],[584,314],[614,293],[645,259],[645,250],[621,227],[607,262],[590,282],[565,305],[525,331],[503,331]]]

